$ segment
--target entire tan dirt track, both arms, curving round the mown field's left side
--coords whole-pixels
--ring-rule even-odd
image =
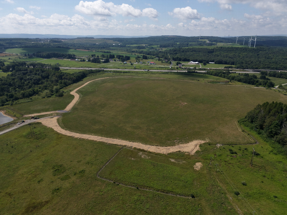
[[[107,77],[107,78],[109,78],[109,77]],[[106,79],[106,78],[100,78],[100,79]],[[100,79],[95,79],[92,81],[96,81],[96,80],[100,80]],[[80,98],[79,94],[76,91],[79,90],[80,88],[86,86],[87,84],[89,84],[92,81],[86,82],[85,84],[83,84],[82,86],[78,87],[77,89],[75,89],[71,92],[71,94],[74,95],[75,98],[71,101],[71,103],[69,103],[67,105],[65,110],[44,112],[44,113],[40,113],[40,114],[30,114],[30,115],[43,115],[43,114],[47,114],[47,113],[70,111],[72,109],[72,107],[79,101],[79,98]],[[129,142],[129,141],[125,141],[125,140],[106,138],[106,137],[100,137],[100,136],[93,136],[93,135],[88,135],[88,134],[79,134],[79,133],[67,131],[67,130],[64,130],[63,128],[61,128],[59,126],[57,119],[58,119],[58,117],[53,117],[53,118],[50,117],[50,118],[38,119],[37,121],[41,122],[43,125],[45,125],[47,127],[53,128],[56,132],[58,132],[60,134],[67,135],[67,136],[72,136],[75,138],[83,138],[83,139],[87,139],[87,140],[106,142],[106,143],[117,144],[117,145],[122,145],[122,146],[135,147],[135,148],[144,149],[146,151],[161,153],[161,154],[168,154],[171,152],[182,151],[182,152],[187,152],[187,153],[193,155],[197,150],[200,150],[199,144],[207,142],[205,140],[194,140],[192,142],[189,142],[186,144],[180,144],[180,145],[176,145],[176,146],[152,146],[152,145],[146,145],[146,144],[142,144],[142,143],[138,143],[138,142]]]

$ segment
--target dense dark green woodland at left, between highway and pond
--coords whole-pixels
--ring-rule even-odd
[[[57,66],[48,66],[42,63],[13,62],[5,69],[12,71],[7,77],[0,79],[0,105],[8,105],[22,98],[29,98],[44,90],[51,95],[63,96],[61,89],[87,77],[90,73],[101,70],[86,70],[76,73],[59,71]]]

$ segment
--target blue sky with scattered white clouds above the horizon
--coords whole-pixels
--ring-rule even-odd
[[[287,34],[287,0],[0,0],[0,34]]]

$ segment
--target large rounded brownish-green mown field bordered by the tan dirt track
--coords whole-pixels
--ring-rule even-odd
[[[206,138],[242,143],[249,139],[239,132],[237,119],[258,103],[287,101],[281,93],[248,85],[188,81],[192,76],[185,75],[178,77],[187,80],[162,77],[92,82],[79,90],[82,98],[63,115],[63,125],[79,133],[160,146]]]

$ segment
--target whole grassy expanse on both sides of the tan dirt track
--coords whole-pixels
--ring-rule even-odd
[[[158,146],[208,142],[194,155],[164,155],[65,136],[41,123],[32,124],[31,137],[24,125],[0,136],[1,213],[284,214],[286,158],[236,124],[258,103],[286,103],[278,90],[199,73],[101,72],[65,87],[63,97],[5,108],[63,110],[73,99],[68,92],[103,77],[110,78],[77,91],[61,126]],[[253,147],[259,155],[250,167]]]

